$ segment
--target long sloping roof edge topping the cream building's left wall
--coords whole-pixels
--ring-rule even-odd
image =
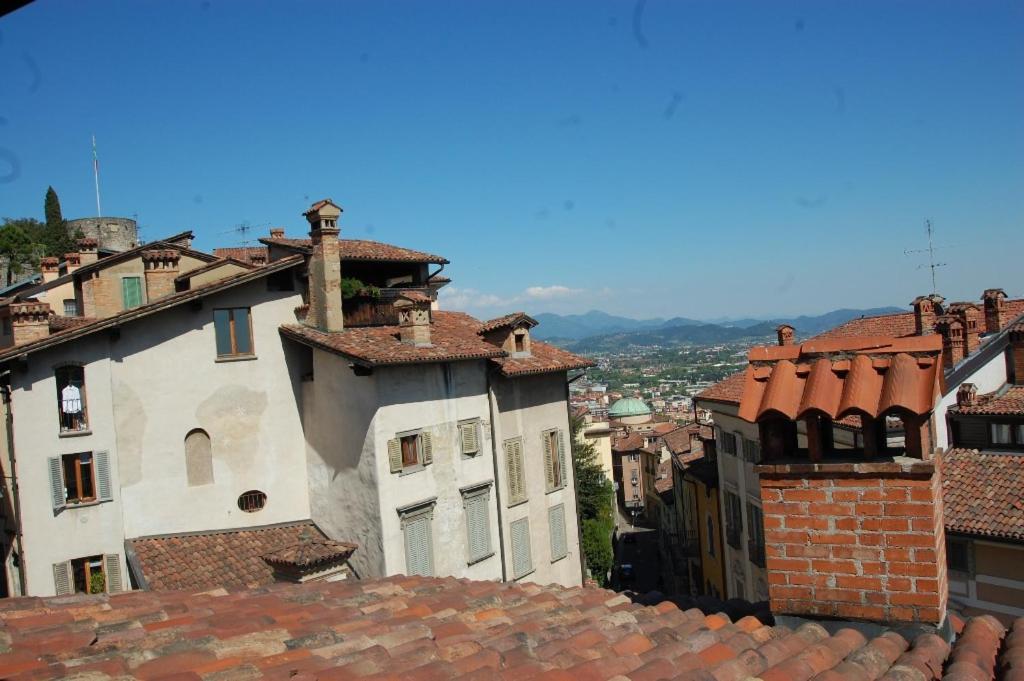
[[[222,280],[217,280],[216,282],[211,282],[210,284],[205,284],[188,291],[181,291],[179,293],[160,298],[145,305],[133,307],[132,309],[125,310],[113,316],[95,320],[88,324],[72,326],[59,331],[58,333],[50,334],[46,338],[33,341],[32,343],[5,348],[2,352],[0,352],[0,363],[8,361],[22,356],[28,356],[33,352],[54,347],[56,345],[60,345],[61,343],[67,343],[68,341],[96,333],[97,331],[120,327],[128,322],[155,314],[161,310],[181,305],[190,300],[203,298],[225,289],[230,289],[236,286],[241,286],[243,284],[248,284],[249,282],[262,279],[272,272],[294,267],[301,264],[302,261],[302,257],[298,255],[282,258],[281,260],[270,263],[266,267],[257,267],[248,271],[239,272],[238,274],[231,274],[230,276],[225,276]]]

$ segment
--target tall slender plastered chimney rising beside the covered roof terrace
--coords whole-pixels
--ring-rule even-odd
[[[313,204],[303,215],[309,221],[313,251],[309,257],[309,313],[306,324],[328,333],[341,331],[345,327],[341,311],[341,252],[338,244],[341,207],[325,199]]]

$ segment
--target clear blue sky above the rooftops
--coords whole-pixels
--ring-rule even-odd
[[[1024,295],[1021,2],[79,2],[0,19],[0,215],[440,253],[445,304],[634,316]]]

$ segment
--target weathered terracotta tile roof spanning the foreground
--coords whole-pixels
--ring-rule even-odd
[[[394,577],[0,601],[0,670],[97,681],[1024,678],[1024,620],[1007,635],[975,618],[951,654],[934,634],[833,631],[600,589]]]

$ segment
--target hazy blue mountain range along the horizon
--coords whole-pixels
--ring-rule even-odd
[[[779,324],[790,324],[799,337],[806,338],[860,316],[904,311],[899,307],[869,309],[837,309],[824,314],[780,317],[776,320],[735,320],[708,324],[698,320],[675,316],[669,320],[632,320],[591,310],[584,314],[542,312],[535,317],[540,323],[534,334],[544,340],[559,341],[575,350],[597,350],[609,345],[677,345],[683,343],[720,343],[768,336]]]

